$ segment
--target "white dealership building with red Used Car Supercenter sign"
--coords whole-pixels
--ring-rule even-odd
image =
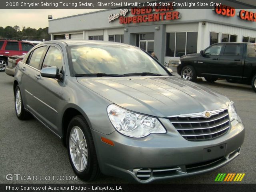
[[[108,9],[49,20],[52,40],[104,40],[155,52],[164,64],[217,42],[254,42],[256,9],[179,9],[173,6]],[[173,62],[175,63],[175,62]]]

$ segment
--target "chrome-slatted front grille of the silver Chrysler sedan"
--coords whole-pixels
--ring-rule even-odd
[[[170,116],[168,119],[186,140],[210,140],[225,134],[230,126],[227,109],[210,111],[210,114],[209,118],[202,112]]]

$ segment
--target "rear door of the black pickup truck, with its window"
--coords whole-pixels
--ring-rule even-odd
[[[226,44],[220,56],[218,71],[220,76],[242,78],[243,44]]]

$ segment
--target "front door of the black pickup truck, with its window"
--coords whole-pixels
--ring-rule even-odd
[[[223,44],[215,44],[204,50],[204,54],[198,57],[195,63],[198,74],[202,76],[218,74],[219,58],[223,47]]]

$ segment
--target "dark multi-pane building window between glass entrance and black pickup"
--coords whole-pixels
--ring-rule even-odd
[[[196,53],[198,32],[172,32],[166,34],[167,57],[181,57]]]

